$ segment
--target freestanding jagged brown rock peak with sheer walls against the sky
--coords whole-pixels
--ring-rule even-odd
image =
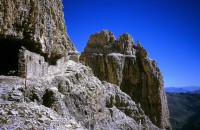
[[[115,40],[110,31],[91,35],[81,55],[100,80],[120,86],[120,89],[141,104],[145,114],[162,129],[171,129],[169,110],[163,87],[163,77],[154,60],[129,34]]]

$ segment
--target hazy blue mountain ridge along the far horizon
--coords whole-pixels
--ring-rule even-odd
[[[200,93],[200,86],[167,87],[165,91],[170,93]]]

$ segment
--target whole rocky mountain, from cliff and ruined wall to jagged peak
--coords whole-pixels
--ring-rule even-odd
[[[170,129],[162,75],[146,50],[103,30],[82,55],[91,69],[79,63],[62,8],[0,0],[0,129]]]

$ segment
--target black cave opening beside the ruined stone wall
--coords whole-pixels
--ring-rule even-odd
[[[0,75],[18,75],[18,53],[20,47],[18,41],[0,39]]]

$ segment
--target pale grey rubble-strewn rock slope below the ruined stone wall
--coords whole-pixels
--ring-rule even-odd
[[[43,78],[0,76],[1,129],[157,130],[139,104],[80,63]]]

